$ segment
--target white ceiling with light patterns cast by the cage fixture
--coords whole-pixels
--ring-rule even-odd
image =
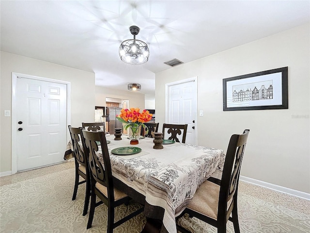
[[[95,84],[155,93],[155,73],[310,21],[310,1],[1,0],[1,50],[95,73]],[[149,45],[143,65],[118,55],[123,40]],[[182,66],[182,65],[180,65]]]

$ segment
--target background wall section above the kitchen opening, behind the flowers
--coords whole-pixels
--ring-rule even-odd
[[[129,92],[114,90],[102,86],[95,86],[96,106],[106,106],[106,97],[129,100],[130,108],[144,109],[144,94],[139,92]]]

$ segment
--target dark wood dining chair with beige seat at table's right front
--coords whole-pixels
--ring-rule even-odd
[[[188,213],[217,228],[217,233],[226,233],[226,224],[233,222],[235,233],[240,233],[237,194],[240,168],[249,130],[233,134],[229,141],[221,180],[207,180],[196,190],[194,198],[182,212]],[[231,216],[232,214],[232,216]],[[178,222],[176,220],[176,222]],[[177,223],[177,230],[190,233]]]

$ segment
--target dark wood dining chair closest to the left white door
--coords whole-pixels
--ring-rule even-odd
[[[71,142],[73,146],[72,153],[75,158],[74,161],[75,161],[75,173],[76,173],[72,200],[76,200],[77,193],[78,193],[78,185],[82,183],[86,183],[85,201],[84,201],[84,209],[83,209],[83,216],[85,216],[88,211],[89,199],[91,196],[90,170],[88,166],[87,157],[84,154],[83,150],[81,150],[81,146],[79,144],[80,128],[73,128],[71,127],[71,125],[69,125],[68,127],[69,127]],[[84,180],[79,181],[79,177],[82,177]]]

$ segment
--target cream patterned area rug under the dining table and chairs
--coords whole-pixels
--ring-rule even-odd
[[[85,184],[72,201],[74,169],[66,169],[0,187],[1,233],[105,233],[107,207],[95,209],[93,227],[86,230],[88,214],[82,216]],[[309,233],[310,216],[239,192],[239,223],[242,233]],[[116,208],[119,219],[138,209],[139,204]],[[114,230],[114,233],[140,233],[146,222],[140,214]],[[193,233],[216,233],[216,229],[185,216],[180,223]],[[233,224],[228,223],[228,233]]]

